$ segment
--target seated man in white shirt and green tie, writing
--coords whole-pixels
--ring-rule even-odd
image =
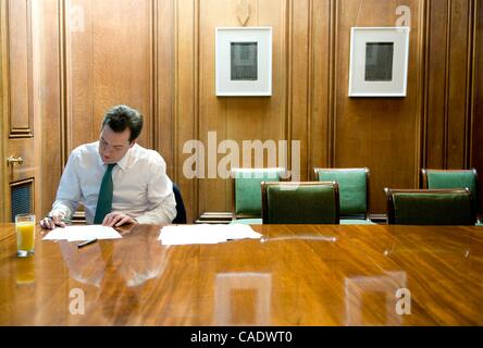
[[[141,128],[138,111],[126,105],[109,110],[99,141],[72,151],[52,210],[40,225],[65,226],[78,203],[88,224],[171,223],[176,215],[173,183],[163,158],[137,144]]]

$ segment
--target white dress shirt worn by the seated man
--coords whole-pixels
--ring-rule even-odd
[[[72,151],[52,213],[61,211],[70,219],[81,202],[86,209],[86,221],[91,224],[106,170],[99,141]],[[173,183],[166,175],[166,163],[157,151],[134,145],[112,170],[112,211],[135,217],[140,224],[171,223],[176,216]]]

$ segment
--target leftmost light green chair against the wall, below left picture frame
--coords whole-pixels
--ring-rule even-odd
[[[261,216],[261,182],[280,182],[285,178],[283,167],[232,169],[233,219]]]

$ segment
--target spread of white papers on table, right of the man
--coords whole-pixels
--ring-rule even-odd
[[[249,225],[178,225],[161,229],[159,240],[163,245],[218,244],[235,239],[259,239],[261,234]]]

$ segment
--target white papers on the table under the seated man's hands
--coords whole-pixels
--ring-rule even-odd
[[[66,226],[52,229],[42,240],[90,240],[122,238],[117,231],[101,225]]]

